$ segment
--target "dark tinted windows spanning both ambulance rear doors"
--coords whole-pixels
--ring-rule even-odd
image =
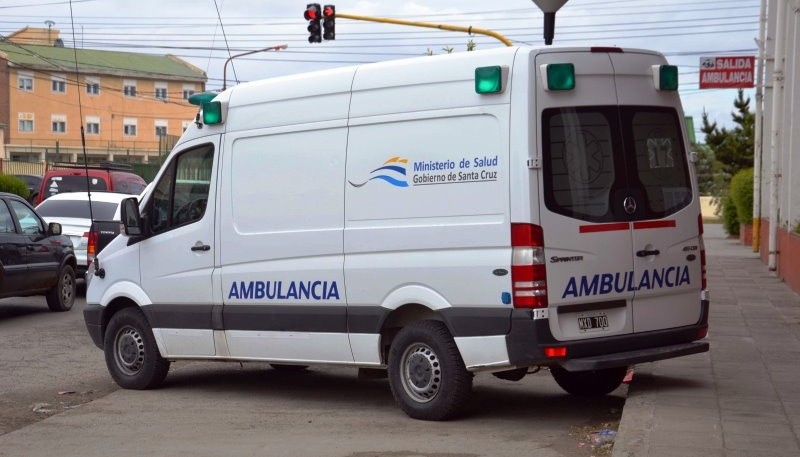
[[[550,211],[589,222],[629,221],[663,218],[691,202],[672,108],[547,109],[542,141]]]

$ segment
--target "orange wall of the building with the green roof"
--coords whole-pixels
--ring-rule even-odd
[[[35,73],[33,91],[25,92],[17,87],[17,70],[9,75],[10,116],[6,129],[9,144],[54,146],[56,140],[64,147],[80,145],[80,126],[85,125],[87,116],[100,118],[100,134],[86,134],[87,147],[158,147],[155,134],[155,121],[167,121],[167,134],[180,135],[183,121],[191,121],[197,107],[183,100],[182,81],[167,82],[167,103],[155,99],[156,80],[135,79],[136,97],[125,97],[122,93],[123,78],[117,76],[93,75],[99,78],[99,95],[86,93],[86,75],[80,76],[80,86],[75,85],[74,74],[66,74],[66,93],[51,90],[50,73]],[[195,92],[204,90],[203,83],[194,83]],[[78,95],[83,109],[81,120]],[[34,113],[34,131],[20,132],[18,113]],[[67,117],[66,132],[53,133],[51,115],[63,114]],[[123,136],[123,118],[136,118],[136,136]]]

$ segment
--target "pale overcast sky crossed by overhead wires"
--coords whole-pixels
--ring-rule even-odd
[[[332,0],[333,1],[333,0]],[[173,54],[205,71],[207,89],[308,71],[504,46],[495,38],[339,18],[336,39],[310,44],[302,0],[0,0],[0,35],[23,27],[60,31],[65,46]],[[514,44],[544,46],[543,14],[531,0],[338,0],[339,13],[473,26]],[[653,49],[678,65],[685,114],[698,141],[703,111],[731,127],[735,89],[698,88],[706,56],[757,55],[760,0],[568,0],[553,46]],[[51,23],[52,22],[52,23]],[[226,60],[236,54],[287,44]],[[745,94],[754,108],[754,90]]]

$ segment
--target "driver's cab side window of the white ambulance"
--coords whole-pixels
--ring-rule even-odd
[[[150,230],[165,232],[203,218],[214,164],[213,145],[176,156],[153,189]]]

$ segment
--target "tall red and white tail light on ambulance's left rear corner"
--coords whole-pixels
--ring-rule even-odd
[[[547,307],[544,234],[533,224],[511,224],[511,283],[515,308]]]

